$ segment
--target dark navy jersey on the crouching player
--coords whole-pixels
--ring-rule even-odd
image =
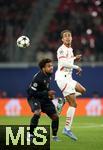
[[[49,99],[50,80],[50,75],[46,75],[42,71],[35,74],[27,90],[28,98]]]

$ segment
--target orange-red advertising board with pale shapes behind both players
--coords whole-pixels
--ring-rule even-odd
[[[103,115],[103,99],[78,98],[76,116]],[[66,115],[68,103],[63,106],[61,115]],[[26,98],[0,99],[0,116],[31,116],[32,112]]]

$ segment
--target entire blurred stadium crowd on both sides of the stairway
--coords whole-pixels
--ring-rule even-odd
[[[36,3],[37,0],[0,0],[0,62],[9,61],[6,50],[10,38],[21,35]],[[11,26],[13,35],[10,35]],[[35,50],[36,61],[45,56],[56,60],[60,32],[64,29],[72,31],[72,46],[75,53],[82,53],[84,62],[103,60],[102,0],[60,0]]]

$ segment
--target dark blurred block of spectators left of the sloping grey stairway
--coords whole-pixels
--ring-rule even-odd
[[[0,62],[9,61],[6,48],[23,32],[34,3],[36,0],[0,0]]]

